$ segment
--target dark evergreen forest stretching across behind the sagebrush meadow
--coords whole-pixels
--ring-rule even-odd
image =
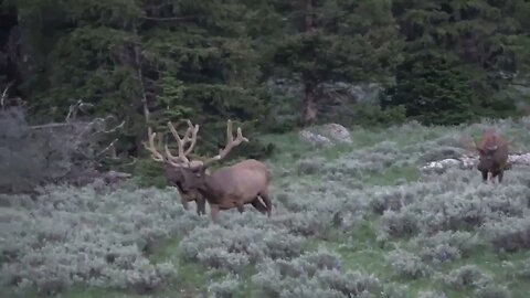
[[[29,121],[64,119],[83,99],[94,115],[125,121],[116,146],[131,156],[144,152],[147,123],[165,129],[193,119],[215,148],[227,118],[252,136],[330,119],[453,125],[523,115],[529,102],[527,0],[0,0],[0,87],[25,103]],[[349,92],[367,84],[381,89],[377,100]]]

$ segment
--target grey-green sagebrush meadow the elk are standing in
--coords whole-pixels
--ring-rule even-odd
[[[530,151],[530,118],[351,128],[329,149],[264,136],[278,148],[271,219],[247,206],[213,225],[176,190],[132,182],[2,195],[2,297],[528,297],[529,169],[502,184],[417,170],[486,127]]]

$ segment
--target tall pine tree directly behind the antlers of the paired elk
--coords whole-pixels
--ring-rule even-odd
[[[150,64],[157,65],[150,77],[159,88],[156,104],[167,111],[161,119],[192,118],[203,125],[202,143],[210,143],[212,150],[224,145],[220,132],[229,118],[240,120],[252,134],[267,113],[258,55],[246,28],[252,10],[232,0],[179,1],[163,11],[144,33],[153,58]],[[179,21],[160,22],[163,18]]]

